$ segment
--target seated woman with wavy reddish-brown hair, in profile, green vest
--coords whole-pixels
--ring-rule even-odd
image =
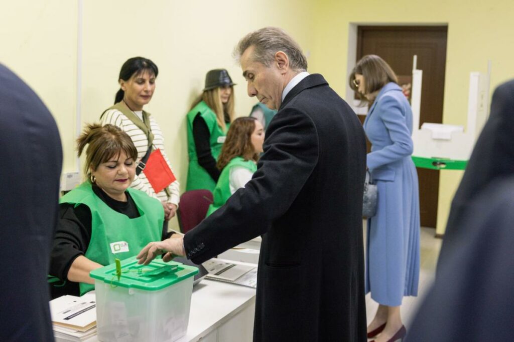
[[[264,143],[264,128],[254,117],[238,117],[230,125],[227,139],[216,167],[222,170],[212,192],[214,203],[207,216],[223,206],[239,188],[243,188],[257,170],[257,160]]]

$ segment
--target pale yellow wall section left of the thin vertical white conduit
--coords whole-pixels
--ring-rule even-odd
[[[63,144],[75,138],[77,3],[0,2],[0,63],[24,79],[56,117]],[[64,148],[64,170],[76,168]]]

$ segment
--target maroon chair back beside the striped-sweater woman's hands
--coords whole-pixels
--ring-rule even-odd
[[[209,190],[190,190],[183,193],[177,210],[180,231],[187,233],[196,227],[207,215],[212,202],[212,192]]]

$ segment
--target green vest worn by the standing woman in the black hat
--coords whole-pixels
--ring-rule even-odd
[[[188,122],[188,155],[189,155],[189,168],[188,168],[188,182],[186,191],[196,189],[207,189],[213,191],[216,183],[209,173],[198,164],[198,156],[196,154],[196,147],[193,137],[193,120],[196,115],[199,115],[205,120],[207,128],[210,132],[209,143],[211,146],[212,157],[217,160],[219,152],[222,150],[223,143],[227,137],[227,132],[223,131],[218,126],[216,121],[216,113],[207,106],[204,101],[193,107],[187,115]],[[230,124],[227,124],[227,130]]]

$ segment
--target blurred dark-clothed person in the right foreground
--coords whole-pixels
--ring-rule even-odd
[[[433,287],[408,341],[512,339],[513,134],[511,80],[492,96],[491,115],[452,201]]]

